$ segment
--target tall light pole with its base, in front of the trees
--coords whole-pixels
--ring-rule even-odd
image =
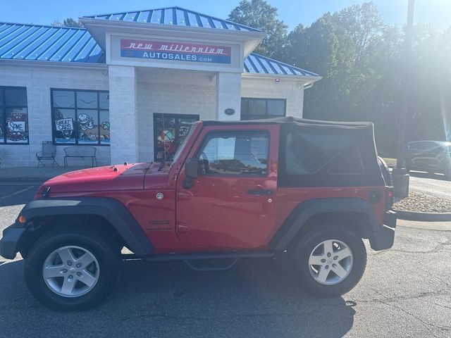
[[[402,72],[402,93],[400,106],[400,130],[397,142],[396,168],[393,169],[393,186],[395,187],[395,196],[409,196],[409,175],[404,168],[404,149],[406,144],[406,124],[407,111],[409,106],[410,82],[412,77],[412,35],[414,28],[414,6],[415,0],[409,0],[407,7],[407,26],[404,40],[404,69]]]

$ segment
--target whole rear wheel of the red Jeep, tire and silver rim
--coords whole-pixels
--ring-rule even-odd
[[[366,249],[362,239],[345,225],[327,225],[304,234],[292,259],[307,292],[321,297],[340,296],[362,278]]]

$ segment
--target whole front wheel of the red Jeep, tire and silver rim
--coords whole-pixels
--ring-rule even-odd
[[[89,230],[50,230],[27,255],[27,287],[38,301],[56,311],[94,308],[109,296],[118,278],[120,256],[113,248]]]

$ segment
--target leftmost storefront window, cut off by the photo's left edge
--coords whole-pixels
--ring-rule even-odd
[[[0,87],[0,144],[28,144],[27,89]]]

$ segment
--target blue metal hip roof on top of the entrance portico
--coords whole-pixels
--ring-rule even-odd
[[[135,23],[153,23],[157,25],[177,25],[187,27],[204,27],[219,30],[241,30],[245,32],[261,32],[256,28],[247,27],[228,20],[214,18],[210,15],[189,11],[180,7],[166,7],[147,9],[145,11],[132,11],[122,13],[109,13],[88,15],[84,18],[94,18],[114,21],[131,21]]]

